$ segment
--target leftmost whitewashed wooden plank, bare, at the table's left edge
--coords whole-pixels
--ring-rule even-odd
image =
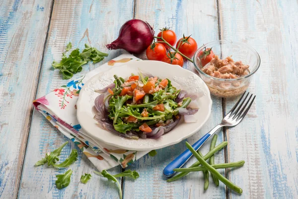
[[[0,198],[3,199],[17,196],[51,10],[52,0],[0,1]]]

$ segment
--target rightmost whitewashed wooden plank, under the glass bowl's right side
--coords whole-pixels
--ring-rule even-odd
[[[219,0],[221,36],[255,48],[261,67],[249,91],[257,98],[245,120],[228,129],[228,177],[241,198],[298,198],[298,2]],[[289,17],[291,16],[291,17]],[[227,100],[229,110],[236,99]],[[228,191],[228,198],[238,195]]]

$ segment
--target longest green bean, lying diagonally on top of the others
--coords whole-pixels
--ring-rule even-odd
[[[211,174],[215,175],[220,181],[224,183],[224,185],[226,185],[231,190],[237,192],[238,194],[242,194],[242,189],[240,187],[238,187],[237,185],[233,184],[232,182],[224,178],[224,176],[222,176],[215,168],[210,166],[210,164],[208,164],[188,142],[185,142],[185,144],[186,144],[186,147],[197,158],[197,160],[202,164],[202,166],[204,166],[208,171],[210,171]]]

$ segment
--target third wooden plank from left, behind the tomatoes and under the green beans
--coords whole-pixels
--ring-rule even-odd
[[[197,40],[198,45],[218,39],[218,18],[216,1],[151,1],[139,0],[136,2],[135,17],[143,19],[154,25],[155,33],[164,26],[171,27],[176,33],[178,39],[185,35],[192,34]],[[145,55],[141,56],[144,58]],[[184,65],[190,69],[191,64]],[[194,143],[205,133],[211,130],[222,119],[222,100],[213,99],[213,112],[206,125],[194,136],[187,139]],[[219,132],[218,143],[223,141],[223,132]],[[210,147],[209,140],[203,147],[203,153],[207,153]],[[134,165],[127,169],[137,170],[140,178],[136,181],[124,179],[124,198],[143,198],[143,199],[197,199],[197,198],[225,198],[225,186],[221,184],[216,188],[210,178],[210,187],[204,192],[203,175],[193,173],[186,178],[166,183],[162,175],[163,168],[180,153],[186,149],[185,142],[182,141],[174,146],[169,146],[157,150],[155,157],[148,155],[141,158]],[[187,166],[194,163],[192,158]],[[224,150],[216,155],[216,162],[224,162]],[[223,171],[224,172],[224,171]]]

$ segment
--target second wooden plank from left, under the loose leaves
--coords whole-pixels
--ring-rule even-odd
[[[105,44],[116,39],[121,25],[133,17],[133,0],[55,0],[49,37],[42,63],[37,97],[42,97],[57,87],[69,82],[62,80],[59,71],[51,69],[53,60],[60,60],[68,42],[82,49],[84,43],[91,43],[99,50],[106,51]],[[90,64],[74,75],[74,79],[95,67],[99,67],[122,51],[109,52],[103,62]],[[56,171],[47,167],[33,167],[34,163],[61,145],[66,138],[58,132],[39,112],[34,111],[28,140],[25,165],[19,191],[20,198],[118,198],[116,185],[91,174],[88,184],[79,183],[81,174],[92,173],[95,168],[84,155],[70,167],[74,171],[71,184],[62,190],[55,187],[55,175],[66,170]],[[61,155],[65,159],[74,145],[69,144]],[[121,167],[109,172],[119,173]]]

